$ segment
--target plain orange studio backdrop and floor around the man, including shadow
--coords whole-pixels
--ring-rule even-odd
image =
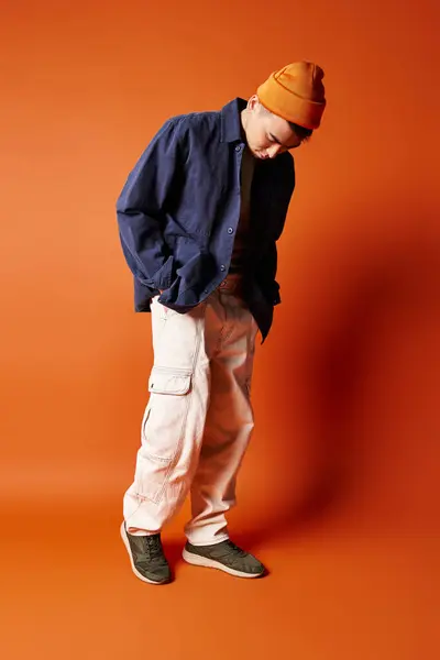
[[[435,657],[440,550],[439,4],[3,2],[4,658]],[[296,154],[283,305],[257,350],[231,514],[271,570],[179,560],[148,587],[118,538],[152,363],[114,202],[162,122],[326,70]]]

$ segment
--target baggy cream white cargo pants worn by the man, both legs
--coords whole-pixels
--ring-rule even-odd
[[[130,534],[155,534],[190,493],[188,540],[228,539],[237,474],[252,429],[250,388],[257,326],[229,276],[191,311],[152,301],[154,365],[134,482],[124,495]]]

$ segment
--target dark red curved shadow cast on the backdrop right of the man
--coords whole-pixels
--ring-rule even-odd
[[[340,280],[340,288],[333,292],[331,321],[321,319],[314,330],[312,323],[305,323],[308,332],[295,354],[284,346],[286,373],[301,370],[315,474],[300,502],[286,502],[279,515],[243,535],[241,541],[250,548],[268,537],[302,534],[351,497],[350,464],[356,451],[352,422],[369,364],[378,358],[372,354],[376,323],[393,306],[406,307],[409,316],[424,315],[424,322],[429,323],[433,307],[438,309],[440,304],[440,244],[415,232],[414,221],[404,226],[407,237],[403,233],[386,248],[380,245],[377,253],[364,255],[365,261],[353,264],[353,272]],[[319,297],[317,300],[319,304]],[[395,331],[398,333],[397,327]]]

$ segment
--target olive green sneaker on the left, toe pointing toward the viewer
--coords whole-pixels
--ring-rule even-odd
[[[150,584],[165,584],[170,581],[170,570],[160,534],[133,536],[127,531],[125,522],[122,522],[121,537],[136,578]]]

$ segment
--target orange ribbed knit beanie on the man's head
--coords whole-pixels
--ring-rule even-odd
[[[311,62],[288,64],[257,89],[263,106],[305,129],[317,129],[326,108],[323,70]]]

